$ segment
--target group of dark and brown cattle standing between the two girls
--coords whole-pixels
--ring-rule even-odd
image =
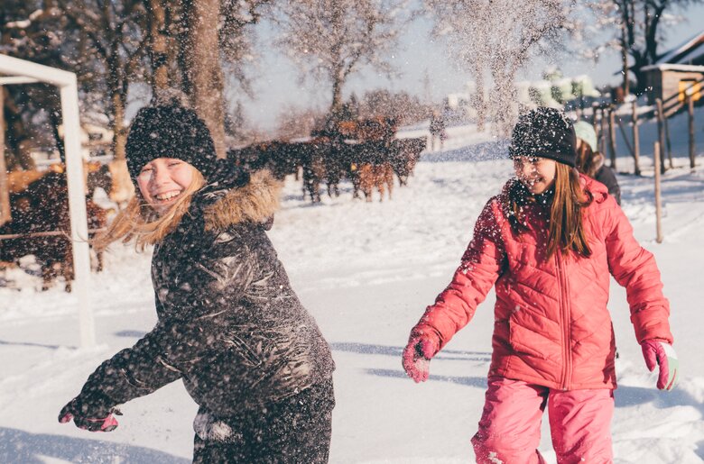
[[[227,157],[247,170],[267,168],[279,179],[301,172],[303,197],[320,202],[320,188],[327,187],[329,196],[339,196],[343,180],[352,183],[352,194],[361,191],[367,202],[374,190],[380,199],[384,192],[391,198],[394,175],[404,186],[425,150],[426,138],[346,141],[340,138],[317,137],[310,141],[271,141],[229,150]]]

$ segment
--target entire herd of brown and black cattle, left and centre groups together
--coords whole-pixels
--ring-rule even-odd
[[[401,186],[406,184],[425,143],[424,137],[371,141],[317,137],[310,141],[255,144],[229,150],[227,157],[250,171],[269,169],[279,179],[290,174],[301,176],[303,196],[310,196],[314,203],[320,202],[323,187],[327,187],[329,196],[338,196],[339,184],[345,179],[352,183],[355,197],[361,191],[366,201],[371,201],[374,189],[382,199],[384,192],[391,197],[394,175]],[[109,213],[93,201],[95,189],[102,187],[118,207],[129,195],[125,186],[131,187],[131,183],[122,163],[124,166],[116,165],[116,161],[107,165],[89,162],[84,166],[89,236],[107,226]],[[73,260],[68,187],[62,166],[10,173],[9,184],[11,220],[0,224],[0,269],[33,255],[41,269],[42,289],[63,277],[65,289],[70,291]],[[101,254],[94,252],[93,261],[94,268],[101,270]]]

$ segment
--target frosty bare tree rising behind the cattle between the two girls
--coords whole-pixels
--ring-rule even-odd
[[[342,106],[347,77],[364,66],[394,74],[389,58],[408,0],[297,0],[283,2],[279,44],[304,73],[331,88],[330,114]]]

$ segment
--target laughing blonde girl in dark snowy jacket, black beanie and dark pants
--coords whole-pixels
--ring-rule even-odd
[[[205,124],[175,104],[140,110],[126,152],[137,195],[97,246],[154,245],[159,319],[60,422],[111,431],[117,405],[181,378],[200,406],[194,462],[327,462],[334,364],[265,233],[279,184],[216,160]]]

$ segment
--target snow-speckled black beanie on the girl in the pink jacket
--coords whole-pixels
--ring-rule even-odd
[[[574,168],[576,144],[570,118],[560,110],[541,106],[518,117],[508,153],[511,158],[550,158]]]

